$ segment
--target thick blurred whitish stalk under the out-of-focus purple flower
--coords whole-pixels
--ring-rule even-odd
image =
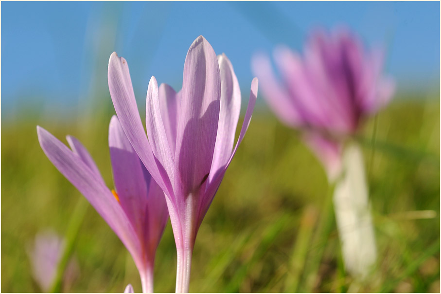
[[[377,253],[363,154],[355,143],[343,153],[343,172],[335,181],[334,209],[345,268],[353,276],[364,278]]]

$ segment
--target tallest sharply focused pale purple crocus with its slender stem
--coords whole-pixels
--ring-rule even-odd
[[[256,102],[257,79],[233,149],[241,93],[227,56],[197,37],[184,64],[182,90],[150,79],[146,129],[124,58],[110,56],[110,95],[127,138],[166,195],[177,250],[176,292],[188,292],[196,233],[241,143]]]

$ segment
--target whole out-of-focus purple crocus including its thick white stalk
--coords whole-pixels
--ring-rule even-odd
[[[285,46],[277,47],[274,59],[281,80],[276,78],[266,55],[252,59],[253,72],[261,80],[270,108],[284,124],[302,131],[330,183],[336,184],[335,214],[346,267],[362,276],[375,259],[375,244],[361,152],[354,151],[359,147],[352,144],[344,155],[345,142],[364,118],[392,97],[393,81],[381,74],[383,56],[378,49],[365,51],[357,37],[342,29],[333,34],[315,32],[306,43],[303,57]],[[358,167],[353,166],[354,161]],[[357,175],[348,180],[351,171]]]

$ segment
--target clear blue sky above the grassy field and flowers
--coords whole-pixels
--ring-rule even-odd
[[[278,43],[301,50],[318,26],[346,25],[387,48],[401,91],[439,89],[439,2],[2,2],[2,114],[66,108],[109,94],[107,62],[127,59],[137,99],[150,77],[182,85],[185,55],[203,35],[231,60],[244,92],[250,58]]]

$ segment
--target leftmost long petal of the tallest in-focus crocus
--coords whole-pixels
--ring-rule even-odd
[[[165,171],[159,171],[142,128],[127,62],[123,57],[118,57],[115,52],[110,55],[107,75],[113,106],[127,138],[161,189],[167,191],[169,195],[173,195],[170,180]]]

